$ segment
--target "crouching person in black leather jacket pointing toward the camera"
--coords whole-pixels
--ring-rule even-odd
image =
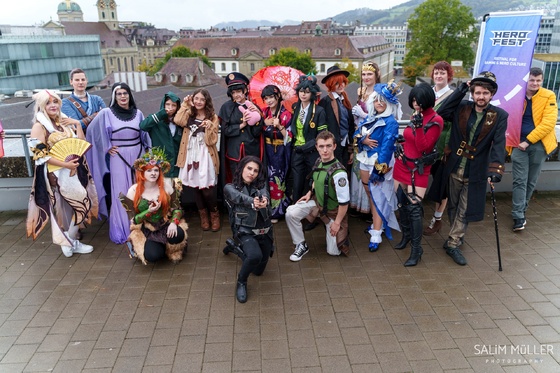
[[[224,254],[233,252],[243,260],[237,275],[236,296],[240,303],[247,301],[249,275],[262,275],[273,253],[265,173],[266,168],[257,157],[246,156],[239,162],[232,183],[224,187],[234,237],[228,240]]]

